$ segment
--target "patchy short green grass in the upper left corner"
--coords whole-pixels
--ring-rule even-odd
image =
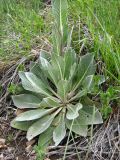
[[[45,30],[42,12],[40,0],[0,1],[1,60],[29,54],[37,46]]]

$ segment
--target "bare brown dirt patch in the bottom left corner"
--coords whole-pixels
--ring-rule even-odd
[[[35,153],[26,151],[26,133],[11,128],[7,116],[5,111],[0,115],[0,138],[4,142],[0,148],[0,160],[35,160]]]

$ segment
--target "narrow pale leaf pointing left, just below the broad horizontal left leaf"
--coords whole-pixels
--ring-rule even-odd
[[[47,114],[50,114],[55,109],[36,109],[31,111],[26,111],[17,116],[16,121],[30,121],[39,119]]]

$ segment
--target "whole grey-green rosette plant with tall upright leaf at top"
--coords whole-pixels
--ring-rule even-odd
[[[19,72],[24,94],[13,102],[24,112],[11,126],[27,131],[27,139],[39,135],[58,145],[67,130],[87,136],[88,126],[102,123],[102,117],[88,95],[93,93],[96,65],[92,53],[78,56],[71,48],[72,31],[67,25],[67,0],[52,0],[54,28],[51,53],[41,51],[29,72]],[[46,136],[46,137],[45,137]],[[44,138],[43,138],[44,137]]]

